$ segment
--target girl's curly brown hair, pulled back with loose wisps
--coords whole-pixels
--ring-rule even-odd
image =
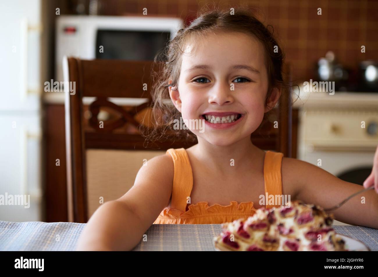
[[[215,31],[231,31],[250,34],[262,43],[265,50],[265,61],[268,72],[268,92],[266,94],[266,102],[271,95],[274,87],[283,89],[288,83],[283,80],[283,61],[284,53],[280,48],[277,40],[273,37],[273,27],[265,26],[254,15],[254,8],[239,5],[234,8],[234,14],[231,9],[219,9],[208,7],[197,12],[189,26],[181,26],[177,35],[169,41],[163,52],[156,54],[154,58],[155,65],[159,70],[152,72],[154,86],[152,88],[152,116],[155,122],[153,128],[146,130],[141,128],[141,134],[146,140],[157,141],[169,138],[177,138],[180,140],[195,142],[197,136],[189,129],[174,130],[174,120],[180,120],[181,112],[179,112],[169,97],[169,86],[177,86],[182,54],[185,51],[184,46],[189,41],[199,41],[204,38],[208,32]],[[272,31],[269,30],[271,27]],[[273,51],[276,46],[278,51]],[[169,80],[172,83],[169,84]],[[260,127],[267,121],[271,120],[273,110],[266,112]]]

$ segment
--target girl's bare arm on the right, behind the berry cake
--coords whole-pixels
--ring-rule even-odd
[[[288,182],[295,184],[296,195],[291,195],[291,198],[324,209],[331,208],[354,192],[364,189],[363,186],[345,182],[318,166],[291,158],[283,158],[282,182],[283,187]],[[365,203],[361,197],[364,197]],[[363,192],[330,213],[338,221],[378,229],[378,194],[374,190]]]

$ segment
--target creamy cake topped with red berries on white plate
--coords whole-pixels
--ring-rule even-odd
[[[214,245],[222,251],[345,251],[332,222],[319,206],[293,201],[223,223]]]

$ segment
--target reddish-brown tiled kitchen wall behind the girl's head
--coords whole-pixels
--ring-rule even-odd
[[[201,0],[107,0],[102,14],[169,14],[190,20],[209,3]],[[265,0],[214,1],[221,7],[245,4],[260,9],[260,19],[274,27],[294,78],[312,78],[313,68],[328,50],[349,67],[362,60],[378,60],[377,0]],[[322,15],[317,9],[322,9]],[[366,53],[361,53],[361,45]]]

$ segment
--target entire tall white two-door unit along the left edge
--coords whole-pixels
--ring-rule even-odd
[[[0,195],[30,195],[29,208],[0,205],[0,220],[43,220],[41,5],[0,2]]]

